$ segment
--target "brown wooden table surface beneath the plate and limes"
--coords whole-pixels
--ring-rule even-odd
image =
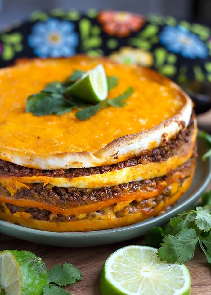
[[[211,184],[209,189],[211,189]],[[0,250],[32,251],[43,258],[47,268],[65,262],[77,266],[83,272],[83,280],[66,288],[72,295],[100,295],[100,273],[106,258],[115,250],[132,244],[144,244],[144,239],[141,237],[118,244],[90,248],[59,248],[0,236]],[[191,295],[211,295],[211,265],[206,262],[202,251],[197,249],[194,258],[186,265],[191,273]]]

